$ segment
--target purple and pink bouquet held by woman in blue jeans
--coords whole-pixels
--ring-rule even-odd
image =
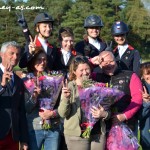
[[[38,95],[38,102],[40,111],[53,110],[58,95],[61,89],[61,83],[64,79],[63,74],[57,72],[57,74],[45,74],[43,73],[42,76],[35,77],[32,76],[28,80],[26,80],[25,86],[27,90],[32,94],[34,91],[35,86],[39,86],[41,88],[41,93]],[[50,120],[44,120],[41,122],[42,128],[47,130],[51,128]]]

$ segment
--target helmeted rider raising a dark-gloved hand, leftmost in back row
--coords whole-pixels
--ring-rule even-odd
[[[28,26],[27,26],[26,20],[24,19],[23,14],[22,14],[21,18],[19,18],[18,22],[19,22],[19,25],[23,28],[23,33],[24,33],[24,36],[26,38],[26,43],[27,43],[25,46],[25,52],[19,62],[19,67],[20,68],[27,67],[27,62],[32,57],[32,54],[35,51],[35,47],[42,47],[47,55],[48,69],[56,70],[56,68],[57,68],[56,52],[57,51],[48,42],[48,39],[53,30],[54,20],[53,20],[52,16],[48,15],[47,13],[40,13],[35,17],[34,29],[37,34],[35,35],[34,40],[31,37],[31,33],[28,29]],[[28,48],[29,43],[30,43],[30,46],[33,47],[30,50]]]

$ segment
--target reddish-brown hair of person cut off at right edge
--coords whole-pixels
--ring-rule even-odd
[[[142,63],[140,66],[140,77],[143,77],[143,74],[150,74],[150,62]]]

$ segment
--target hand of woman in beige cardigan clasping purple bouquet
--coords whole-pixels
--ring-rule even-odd
[[[99,105],[98,108],[95,106],[92,106],[91,113],[92,113],[92,116],[97,119],[105,118],[107,115],[107,112],[104,110],[104,108],[101,105]]]

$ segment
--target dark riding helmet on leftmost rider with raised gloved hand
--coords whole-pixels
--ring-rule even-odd
[[[36,26],[37,23],[42,23],[42,22],[51,22],[53,25],[54,20],[52,16],[48,15],[47,13],[40,13],[34,19],[34,26]]]

